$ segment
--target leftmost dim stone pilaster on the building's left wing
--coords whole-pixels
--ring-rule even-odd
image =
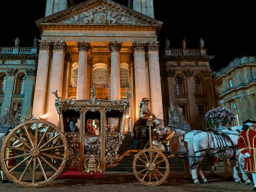
[[[12,102],[12,91],[13,91],[13,87],[14,87],[14,79],[15,79],[15,75],[18,72],[18,69],[14,69],[14,68],[7,68],[7,76],[6,76],[6,84],[5,84],[5,88],[4,88],[4,102],[2,105],[2,111],[9,112],[10,107],[11,106],[11,102]],[[4,113],[1,113],[1,116]]]

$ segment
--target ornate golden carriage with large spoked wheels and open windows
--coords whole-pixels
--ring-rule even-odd
[[[123,100],[100,100],[94,95],[88,100],[62,100],[57,91],[52,93],[56,96],[60,128],[46,120],[25,118],[3,141],[0,160],[12,182],[23,187],[40,187],[70,167],[78,167],[80,173],[94,174],[117,166],[127,156],[134,158],[133,171],[142,184],[156,186],[166,180],[168,159],[166,154],[152,148],[151,135],[149,148],[118,154],[125,137],[124,120],[131,93],[126,92]],[[79,132],[66,132],[68,118],[74,114],[80,118]],[[116,123],[116,131],[108,132],[106,125],[112,121]],[[152,126],[152,122],[148,123]],[[89,124],[97,125],[94,134],[88,132]]]

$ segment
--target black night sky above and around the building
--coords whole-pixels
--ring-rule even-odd
[[[128,0],[114,1],[128,5]],[[74,2],[78,4],[84,0]],[[33,46],[34,37],[40,39],[35,21],[44,18],[45,7],[46,0],[1,1],[0,46],[14,46],[13,40],[17,36],[20,47]],[[209,1],[155,0],[154,10],[155,19],[164,23],[158,36],[160,50],[165,46],[166,37],[170,40],[170,48],[182,48],[182,39],[185,38],[186,48],[195,49],[199,48],[202,37],[207,54],[215,56],[210,61],[214,71],[225,67],[234,58],[256,55],[253,1],[233,1],[232,4],[215,1],[210,4]]]

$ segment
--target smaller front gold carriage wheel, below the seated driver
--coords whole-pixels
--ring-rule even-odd
[[[134,157],[132,168],[138,181],[147,186],[162,184],[170,171],[166,156],[153,148],[138,152]]]

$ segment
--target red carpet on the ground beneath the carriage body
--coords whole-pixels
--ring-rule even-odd
[[[90,175],[90,173],[80,173],[77,167],[71,167],[66,170],[63,174],[58,176],[58,179],[68,179],[68,178],[102,178],[102,173],[94,173]]]

